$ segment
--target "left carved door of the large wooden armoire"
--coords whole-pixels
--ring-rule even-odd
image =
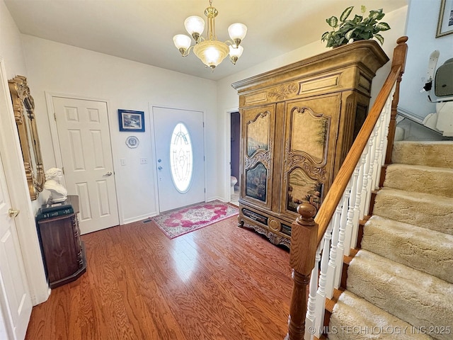
[[[275,105],[242,111],[243,174],[241,197],[270,208],[275,143]]]

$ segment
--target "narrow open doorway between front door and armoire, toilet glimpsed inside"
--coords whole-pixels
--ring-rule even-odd
[[[239,186],[241,177],[239,176],[239,159],[241,149],[241,115],[239,112],[230,113],[230,126],[231,126],[231,196],[230,202],[239,205]]]

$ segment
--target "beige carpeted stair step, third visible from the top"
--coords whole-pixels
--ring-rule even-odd
[[[373,213],[445,234],[453,234],[453,198],[382,188]]]

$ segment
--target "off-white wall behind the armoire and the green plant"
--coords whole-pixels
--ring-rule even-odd
[[[384,36],[384,45],[382,46],[382,49],[384,50],[384,52],[386,52],[386,55],[389,56],[390,61],[376,72],[376,77],[374,77],[372,84],[372,98],[370,105],[372,105],[372,103],[374,102],[374,96],[377,96],[379,90],[382,87],[382,84],[384,84],[384,81],[389,74],[391,67],[391,58],[393,57],[393,50],[396,46],[396,40],[401,36],[406,35],[405,30],[407,11],[408,6],[404,6],[390,13],[386,13],[384,8],[384,13],[386,13],[386,15],[382,20],[386,23],[389,23],[391,30],[387,30],[386,32],[382,33],[382,35]],[[268,72],[272,69],[283,67],[287,64],[298,62],[299,60],[303,60],[307,57],[312,57],[322,52],[326,52],[325,46],[325,43],[321,42],[320,37],[319,41],[311,42],[311,44],[309,45],[302,46],[297,50],[289,52],[285,55],[281,55],[280,57],[269,60],[268,62],[263,62],[256,65],[256,67],[247,69],[243,72],[238,72],[236,74],[233,74],[231,77],[226,77],[217,82],[217,93],[219,98],[219,101],[217,103],[217,111],[219,115],[219,121],[222,122],[222,124],[219,125],[219,140],[222,143],[221,145],[219,145],[219,174],[222,175],[222,178],[226,179],[226,182],[224,183],[219,182],[218,190],[220,193],[222,193],[222,197],[229,195],[230,145],[228,130],[229,116],[227,115],[227,112],[231,111],[232,108],[237,109],[239,106],[239,96],[237,94],[237,91],[231,87],[231,84],[233,84],[235,81],[253,77],[257,74]],[[244,53],[246,53],[246,51],[244,51]],[[241,62],[241,60],[239,60],[238,62]]]

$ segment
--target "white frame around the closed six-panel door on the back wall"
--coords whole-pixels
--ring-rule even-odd
[[[62,159],[61,149],[59,147],[57,122],[55,121],[55,115],[54,115],[55,111],[54,111],[53,98],[55,98],[55,97],[78,99],[81,101],[101,101],[101,102],[105,103],[105,106],[107,106],[108,133],[110,135],[109,136],[110,137],[110,153],[112,154],[112,160],[113,160],[113,173],[115,173],[116,164],[115,164],[115,157],[113,157],[115,154],[113,152],[113,147],[114,147],[113,145],[115,145],[115,143],[113,143],[113,138],[112,138],[112,131],[113,131],[112,125],[113,124],[112,124],[112,119],[110,116],[109,102],[106,101],[105,99],[101,99],[101,98],[91,98],[91,97],[86,97],[86,96],[78,96],[78,95],[74,95],[74,94],[62,94],[62,93],[57,93],[57,92],[45,91],[45,101],[47,104],[47,116],[49,118],[49,126],[50,126],[50,137],[52,139],[52,146],[54,148],[54,159],[55,159],[55,164],[56,164],[57,168],[62,169],[63,159]],[[64,178],[62,179],[62,181],[65,186],[66,183],[64,183]],[[118,188],[117,176],[115,176],[115,191],[116,191],[115,200],[116,200],[117,210],[118,210],[118,219],[119,219],[120,225],[123,225],[124,218],[123,218],[122,214],[120,214],[120,211],[122,211],[122,207],[121,207],[121,200],[120,200],[120,196],[119,196],[117,188]]]

